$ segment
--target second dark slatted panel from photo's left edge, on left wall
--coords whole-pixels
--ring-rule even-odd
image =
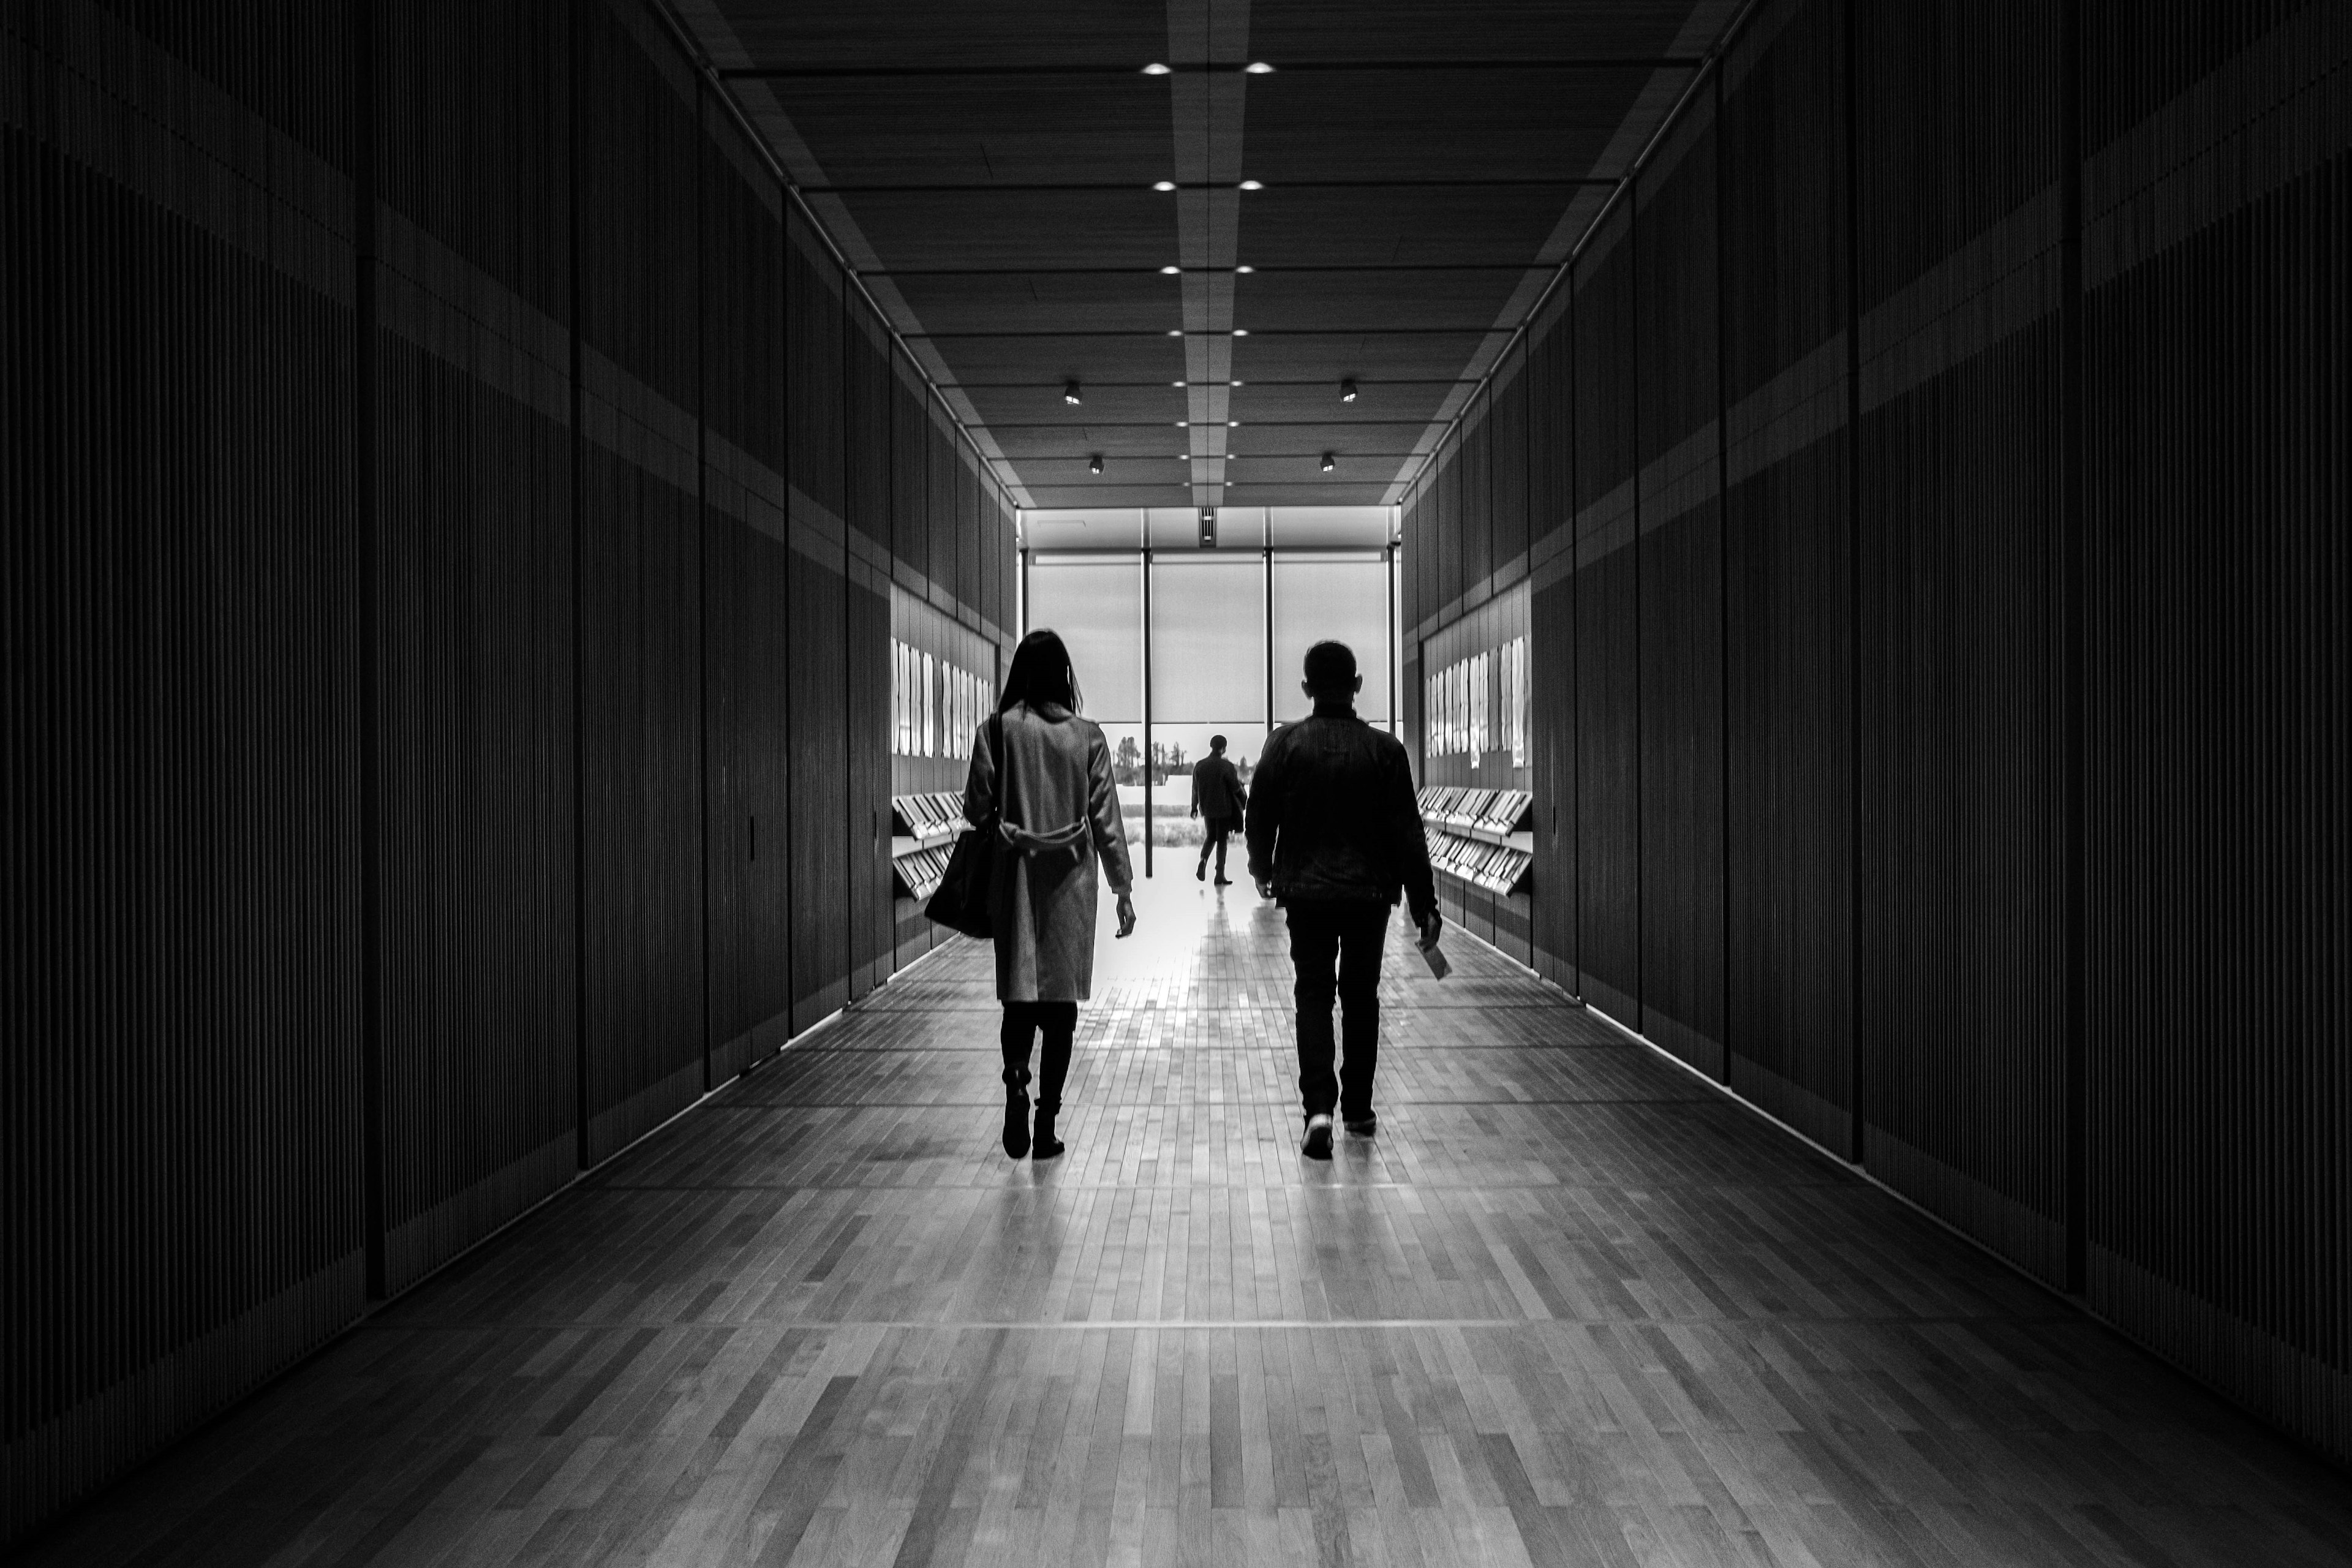
[[[400,1291],[579,1168],[569,9],[374,19],[381,1234]]]

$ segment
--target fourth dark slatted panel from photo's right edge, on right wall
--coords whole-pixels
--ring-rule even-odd
[[[1724,1074],[1724,583],[1715,113],[1700,99],[1635,202],[1642,1032]]]

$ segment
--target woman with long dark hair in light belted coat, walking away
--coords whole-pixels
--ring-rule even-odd
[[[1002,804],[997,872],[990,877],[997,940],[997,1001],[1004,1004],[1004,1152],[1061,1154],[1054,1114],[1070,1072],[1077,1004],[1094,983],[1094,863],[1120,898],[1120,936],[1136,929],[1129,896],[1127,827],[1110,778],[1101,726],[1077,717],[1077,675],[1061,637],[1030,632],[997,698],[997,719],[971,741],[964,818],[983,825]],[[1004,755],[993,731],[1002,726]],[[1037,1063],[1037,1131],[1028,1117],[1030,1041],[1044,1030]]]

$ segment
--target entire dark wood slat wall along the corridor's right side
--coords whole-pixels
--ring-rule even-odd
[[[2347,63],[1766,0],[1524,339],[1536,969],[2338,1462]]]

